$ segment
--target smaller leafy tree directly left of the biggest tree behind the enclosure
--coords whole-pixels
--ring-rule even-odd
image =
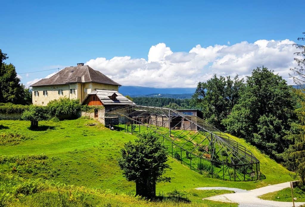
[[[214,75],[206,82],[199,82],[190,105],[203,111],[203,118],[217,128],[224,129],[221,120],[230,114],[238,102],[240,91],[244,89],[244,80],[238,75],[219,78]]]

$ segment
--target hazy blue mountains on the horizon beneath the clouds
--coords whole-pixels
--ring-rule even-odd
[[[196,88],[150,88],[142,86],[121,86],[119,92],[131,97],[190,98]],[[159,95],[160,94],[160,95]]]

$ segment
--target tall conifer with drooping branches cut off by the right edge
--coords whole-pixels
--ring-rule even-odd
[[[305,32],[303,33],[305,35]],[[305,41],[304,37],[298,38],[300,41]],[[295,90],[299,99],[297,100],[298,108],[290,113],[295,114],[299,122],[292,123],[293,133],[285,136],[285,139],[292,142],[289,149],[284,153],[285,165],[289,170],[296,171],[300,176],[303,186],[305,186],[305,46],[302,44],[294,44],[300,51],[295,52],[297,56],[294,58],[298,68],[290,69],[293,75],[289,74],[293,81],[299,86],[300,90]]]

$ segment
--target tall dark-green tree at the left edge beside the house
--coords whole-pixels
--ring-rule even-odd
[[[20,84],[16,68],[13,64],[6,64],[7,54],[0,49],[0,103],[29,104],[32,97],[29,96],[29,89]]]

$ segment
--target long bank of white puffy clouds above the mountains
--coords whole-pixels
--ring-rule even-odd
[[[150,47],[148,59],[130,56],[107,59],[98,57],[85,63],[124,86],[156,88],[196,87],[213,74],[241,77],[250,75],[256,67],[274,70],[292,84],[289,68],[295,67],[291,40],[242,41],[232,45],[202,47],[196,45],[187,51],[171,51],[165,43]],[[228,42],[228,44],[230,44]],[[55,73],[48,75],[50,77]],[[27,82],[30,85],[40,79]]]

